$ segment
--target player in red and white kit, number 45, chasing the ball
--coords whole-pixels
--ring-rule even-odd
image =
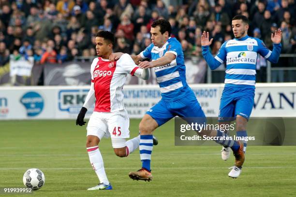
[[[88,190],[110,190],[104,162],[98,144],[103,137],[110,137],[116,155],[128,156],[139,147],[140,137],[126,141],[130,137],[130,120],[123,104],[122,88],[127,74],[148,80],[149,69],[140,69],[128,54],[117,61],[108,60],[112,54],[114,35],[109,31],[99,31],[95,37],[98,57],[91,64],[91,85],[83,107],[77,116],[76,125],[83,126],[87,109],[95,101],[93,113],[87,126],[87,151],[89,161],[100,183]]]

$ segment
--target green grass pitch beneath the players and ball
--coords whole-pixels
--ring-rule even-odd
[[[138,150],[119,158],[110,139],[104,139],[99,148],[113,190],[87,191],[98,179],[85,148],[86,127],[74,122],[0,121],[0,188],[24,187],[24,172],[38,168],[45,185],[34,197],[296,196],[295,146],[248,146],[242,174],[232,179],[227,174],[234,157],[222,161],[220,146],[174,146],[174,121],[154,133],[159,145],[152,153],[152,182],[128,177],[141,167]],[[139,122],[131,120],[131,137]]]

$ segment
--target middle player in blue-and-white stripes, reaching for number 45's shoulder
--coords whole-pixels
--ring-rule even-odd
[[[150,169],[151,153],[153,149],[152,133],[175,116],[184,118],[188,123],[195,121],[203,124],[206,121],[205,113],[198,103],[192,89],[186,82],[184,55],[180,42],[171,38],[171,25],[167,20],[156,20],[151,25],[152,43],[139,55],[132,56],[138,63],[141,59],[149,58],[151,62],[139,63],[140,68],[154,68],[157,82],[160,86],[162,99],[147,111],[139,125],[140,130],[140,158],[142,168],[129,173],[133,180],[152,180]],[[117,56],[117,55],[116,55]],[[120,55],[119,55],[120,56]],[[116,58],[118,58],[117,56]],[[110,58],[110,57],[109,57]],[[189,117],[197,117],[195,120]],[[226,137],[219,130],[199,132],[199,135],[210,137]],[[228,142],[236,147],[236,165],[240,167],[244,162],[243,144],[234,140],[217,140],[219,144]]]

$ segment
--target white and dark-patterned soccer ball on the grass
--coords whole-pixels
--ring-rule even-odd
[[[28,169],[24,174],[23,182],[26,187],[38,190],[45,183],[44,173],[40,169]]]

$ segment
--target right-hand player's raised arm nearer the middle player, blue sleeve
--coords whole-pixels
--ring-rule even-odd
[[[224,59],[226,56],[225,48],[222,45],[217,56],[213,57],[209,51],[209,45],[211,45],[211,43],[213,42],[213,39],[211,39],[210,41],[208,39],[209,39],[209,33],[208,32],[206,33],[206,31],[204,31],[201,37],[202,54],[206,59],[210,69],[215,70],[224,62]],[[218,55],[221,57],[219,57]]]

